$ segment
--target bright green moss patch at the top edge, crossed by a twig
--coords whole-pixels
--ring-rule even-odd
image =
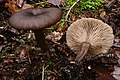
[[[72,5],[75,1],[74,0],[67,0],[66,4],[67,5]],[[81,11],[82,10],[95,10],[98,6],[102,5],[104,0],[80,0],[76,4],[76,8],[79,8]]]

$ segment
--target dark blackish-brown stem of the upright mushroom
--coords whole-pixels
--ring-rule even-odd
[[[37,46],[40,47],[42,50],[49,50],[49,45],[45,40],[45,35],[43,30],[34,30],[35,38],[37,41]]]

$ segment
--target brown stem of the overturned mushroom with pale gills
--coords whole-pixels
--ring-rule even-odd
[[[75,61],[80,62],[84,58],[84,56],[87,54],[89,48],[90,48],[90,43],[83,42],[82,45],[81,45],[81,49],[77,54],[77,57],[76,57]]]

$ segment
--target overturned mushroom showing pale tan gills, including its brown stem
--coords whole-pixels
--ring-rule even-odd
[[[66,32],[68,47],[77,54],[76,62],[85,55],[107,53],[114,40],[113,30],[94,18],[82,18],[70,25]]]

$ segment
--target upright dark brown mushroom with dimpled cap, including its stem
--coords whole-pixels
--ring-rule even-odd
[[[62,16],[58,8],[29,8],[16,12],[9,18],[9,24],[20,30],[32,30],[38,46],[48,50],[44,29],[56,24]]]

